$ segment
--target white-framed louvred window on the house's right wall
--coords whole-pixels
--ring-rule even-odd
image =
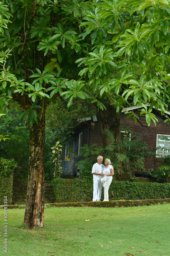
[[[167,137],[168,140],[162,138],[162,136]],[[156,157],[167,156],[170,154],[170,135],[157,134],[156,147],[161,147],[156,150]]]

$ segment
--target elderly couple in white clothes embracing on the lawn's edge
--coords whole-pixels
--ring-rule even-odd
[[[110,184],[112,182],[112,176],[114,175],[114,169],[111,165],[111,161],[106,158],[104,161],[104,166],[102,164],[103,156],[97,157],[97,163],[93,165],[92,168],[92,174],[93,174],[93,202],[100,201],[101,193],[102,193],[102,182],[101,177],[106,176],[106,185],[103,187],[104,189],[104,200],[108,201],[108,189],[110,187]]]

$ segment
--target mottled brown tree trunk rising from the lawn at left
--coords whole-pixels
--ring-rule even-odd
[[[44,135],[45,106],[41,120],[30,127],[28,187],[24,224],[31,229],[44,227]]]

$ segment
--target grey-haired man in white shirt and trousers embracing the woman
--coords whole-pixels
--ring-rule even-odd
[[[102,193],[102,183],[100,181],[101,176],[103,175],[102,164],[103,156],[97,157],[97,163],[93,165],[92,174],[93,174],[93,202],[100,201]]]

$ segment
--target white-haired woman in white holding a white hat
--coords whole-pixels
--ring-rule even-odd
[[[107,180],[106,180],[105,187],[103,187],[103,189],[104,189],[104,200],[103,201],[108,201],[108,189],[109,189],[110,184],[113,179],[112,176],[114,175],[114,169],[113,169],[113,166],[111,165],[110,159],[106,158],[104,161],[104,164],[106,166],[103,167],[103,177],[106,176]]]

